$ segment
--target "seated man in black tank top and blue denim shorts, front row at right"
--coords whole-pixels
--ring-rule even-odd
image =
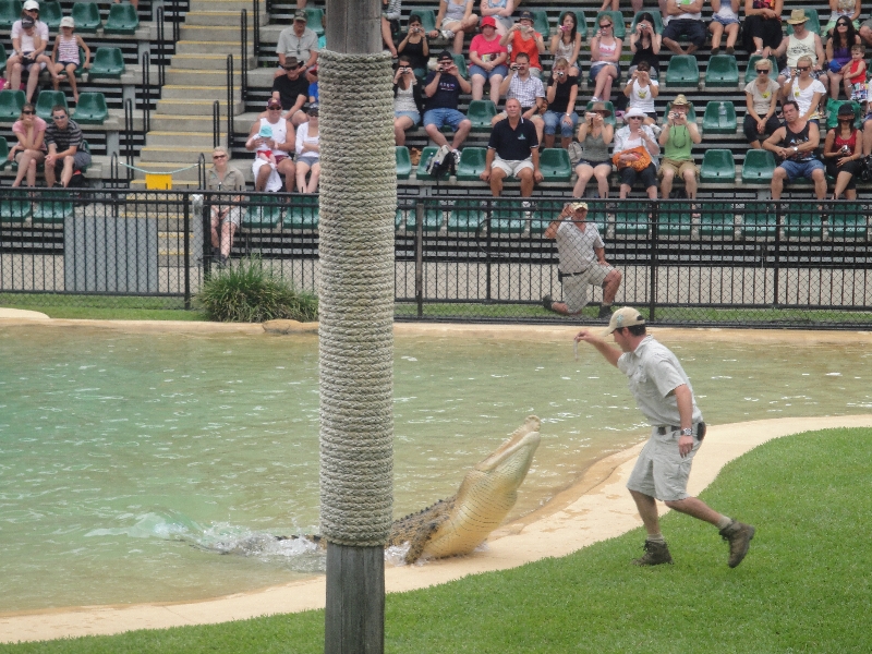
[[[821,143],[818,123],[806,120],[796,100],[787,100],[782,106],[785,124],[763,142],[763,149],[774,153],[780,164],[772,174],[772,198],[780,199],[785,180],[799,178],[814,182],[818,199],[826,197],[824,165],[814,156]]]

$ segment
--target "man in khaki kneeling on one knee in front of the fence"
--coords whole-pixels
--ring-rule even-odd
[[[588,286],[603,287],[601,318],[611,315],[611,303],[620,288],[621,275],[606,262],[606,251],[600,230],[588,222],[588,204],[572,202],[545,230],[546,239],[557,241],[559,264],[557,276],[564,284],[566,302],[554,302],[550,295],[542,299],[545,308],[574,316],[588,304]]]

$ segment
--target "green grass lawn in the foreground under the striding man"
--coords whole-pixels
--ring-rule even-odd
[[[669,513],[674,566],[640,569],[641,529],[573,555],[387,597],[396,653],[869,652],[872,429],[780,438],[728,464],[702,498],[756,525],[727,567],[717,531]],[[136,631],[0,652],[320,653],[323,611]]]

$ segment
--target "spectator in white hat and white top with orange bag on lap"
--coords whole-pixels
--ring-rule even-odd
[[[620,197],[629,195],[637,179],[642,182],[651,199],[657,199],[656,157],[661,146],[650,125],[642,121],[645,113],[630,109],[623,117],[627,125],[615,133],[615,154],[611,161],[620,172]]]

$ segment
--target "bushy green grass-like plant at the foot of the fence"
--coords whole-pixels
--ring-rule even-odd
[[[318,316],[315,295],[296,291],[291,282],[264,267],[259,258],[243,258],[204,281],[196,295],[209,319],[263,323],[275,318],[300,322]]]

